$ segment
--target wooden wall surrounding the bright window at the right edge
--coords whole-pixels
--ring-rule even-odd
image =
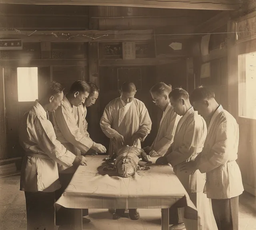
[[[256,12],[230,20],[229,32],[244,31],[230,34],[228,38],[228,105],[229,111],[239,124],[240,140],[238,149],[238,164],[246,191],[256,196],[256,120],[242,117],[239,113],[239,98],[244,91],[239,91],[238,55],[256,52],[255,31]],[[238,38],[238,40],[236,39]]]

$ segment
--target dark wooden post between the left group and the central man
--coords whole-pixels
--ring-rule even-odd
[[[99,46],[98,42],[89,42],[88,48],[88,64],[89,64],[89,81],[94,83],[99,87]],[[89,133],[92,140],[95,142],[100,142],[98,140],[98,132],[102,132],[100,129],[100,101],[97,99],[96,103],[88,109],[88,127]]]

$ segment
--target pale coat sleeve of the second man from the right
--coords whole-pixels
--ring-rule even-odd
[[[183,144],[167,155],[167,161],[172,166],[187,161],[192,155],[198,152],[199,148],[202,148],[204,141],[202,141],[202,138],[205,139],[205,137],[206,131],[199,120],[194,119],[193,121],[188,122],[188,127],[184,133]]]

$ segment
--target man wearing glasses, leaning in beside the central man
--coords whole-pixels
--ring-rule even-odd
[[[164,156],[173,142],[180,116],[174,112],[170,104],[169,94],[171,91],[172,85],[166,85],[164,82],[156,83],[150,89],[154,103],[163,111],[156,139],[151,146],[144,148],[144,151],[150,156]]]

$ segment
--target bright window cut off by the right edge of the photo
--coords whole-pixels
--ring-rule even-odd
[[[256,52],[238,56],[239,116],[256,119]]]

